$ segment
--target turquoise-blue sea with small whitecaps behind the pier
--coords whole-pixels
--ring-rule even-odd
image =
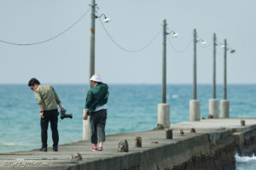
[[[87,84],[49,84],[61,99],[73,119],[59,119],[60,144],[82,139],[82,116]],[[106,133],[130,133],[151,130],[157,126],[157,105],[161,103],[160,84],[108,84],[108,119]],[[191,84],[172,84],[166,88],[171,105],[171,123],[189,121],[189,100],[193,98]],[[230,117],[256,116],[256,84],[229,84]],[[201,101],[201,117],[208,115],[208,100],[212,85],[197,85]],[[223,86],[217,85],[217,99],[223,99]],[[50,127],[49,127],[50,129]],[[49,130],[49,146],[52,145]],[[0,85],[0,153],[33,150],[41,147],[40,117],[37,101],[26,84]],[[256,157],[236,155],[236,169],[256,169]]]

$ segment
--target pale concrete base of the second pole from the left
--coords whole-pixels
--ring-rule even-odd
[[[158,104],[157,123],[163,125],[164,128],[170,127],[170,105]]]

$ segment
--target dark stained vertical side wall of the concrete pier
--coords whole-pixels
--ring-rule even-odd
[[[236,169],[236,150],[241,156],[255,154],[256,126],[198,133],[197,136],[159,144],[135,153],[104,158],[67,167],[68,170],[183,170]]]

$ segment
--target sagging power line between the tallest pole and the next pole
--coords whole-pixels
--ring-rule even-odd
[[[137,48],[137,49],[126,49],[126,48],[123,48],[122,46],[119,45],[118,42],[114,41],[113,37],[110,36],[108,30],[106,29],[106,27],[104,26],[104,24],[102,23],[102,20],[100,20],[101,24],[102,24],[102,28],[103,30],[107,33],[108,37],[112,40],[112,42],[117,46],[119,47],[120,49],[126,51],[126,52],[129,52],[129,53],[137,53],[137,52],[140,52],[140,51],[143,51],[143,49],[145,48],[148,48],[148,46],[154,42],[154,40],[156,39],[156,37],[158,37],[158,35],[160,34],[160,31],[158,31],[158,33],[148,42],[146,43],[146,45],[143,47],[143,48]]]

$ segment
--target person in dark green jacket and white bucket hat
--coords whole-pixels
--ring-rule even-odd
[[[102,78],[98,74],[90,78],[90,84],[92,88],[87,93],[83,117],[84,120],[87,120],[88,116],[90,116],[90,139],[92,143],[90,150],[102,151],[107,119],[108,85],[102,83]]]

